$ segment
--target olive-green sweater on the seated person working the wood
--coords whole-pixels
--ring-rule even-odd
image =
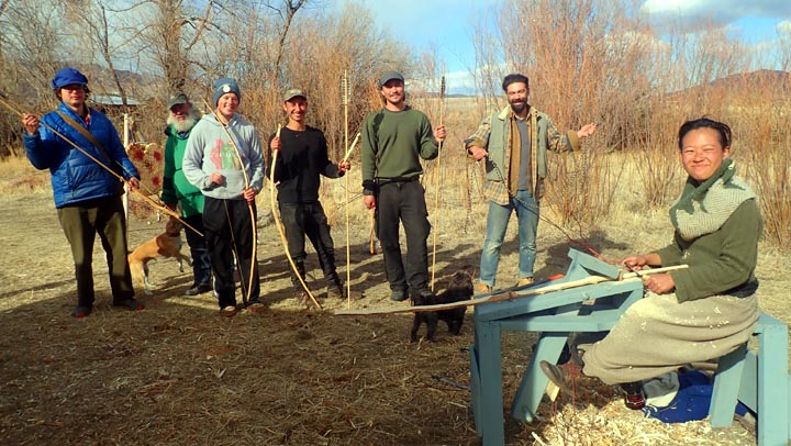
[[[722,294],[755,282],[758,239],[762,221],[755,199],[736,208],[716,231],[684,241],[678,231],[673,243],[657,250],[662,266],[689,265],[672,271],[679,302]]]

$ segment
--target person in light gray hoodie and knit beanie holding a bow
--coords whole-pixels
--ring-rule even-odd
[[[205,197],[203,228],[214,290],[221,313],[233,316],[236,296],[234,267],[229,261],[232,253],[236,255],[242,291],[249,298],[247,308],[253,312],[264,309],[258,300],[260,285],[254,252],[255,196],[263,187],[264,160],[258,132],[236,113],[242,98],[236,81],[221,78],[212,87],[216,112],[205,114],[192,129],[182,169]]]

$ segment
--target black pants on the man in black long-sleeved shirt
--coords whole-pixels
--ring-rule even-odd
[[[293,258],[297,269],[304,280],[304,259],[308,254],[304,250],[305,235],[311,241],[313,248],[319,255],[319,265],[324,272],[324,280],[328,286],[339,286],[337,271],[335,270],[335,247],[326,214],[320,202],[314,203],[280,203],[280,219],[286,228],[289,253]],[[291,282],[301,290],[297,276],[291,271]]]

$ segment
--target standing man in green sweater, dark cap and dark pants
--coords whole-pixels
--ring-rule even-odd
[[[385,255],[390,299],[406,300],[410,292],[431,294],[428,248],[431,231],[425,191],[419,179],[422,159],[436,158],[445,127],[432,131],[428,118],[404,102],[404,78],[387,71],[379,79],[385,107],[363,124],[360,148],[365,205],[376,209],[377,236]],[[401,258],[399,220],[406,234],[406,265]]]

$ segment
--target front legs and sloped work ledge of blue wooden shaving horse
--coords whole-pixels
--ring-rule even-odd
[[[587,254],[570,249],[569,257],[571,264],[562,279],[511,292],[519,297],[589,276],[619,276],[617,267]],[[556,363],[571,333],[609,331],[621,314],[642,298],[643,282],[639,280],[606,281],[476,305],[475,345],[470,348],[470,382],[476,431],[483,445],[502,445],[505,442],[501,359],[503,332],[541,333],[511,406],[514,419],[530,422],[549,381],[541,371],[538,363]],[[594,304],[583,305],[586,301],[594,301]]]

